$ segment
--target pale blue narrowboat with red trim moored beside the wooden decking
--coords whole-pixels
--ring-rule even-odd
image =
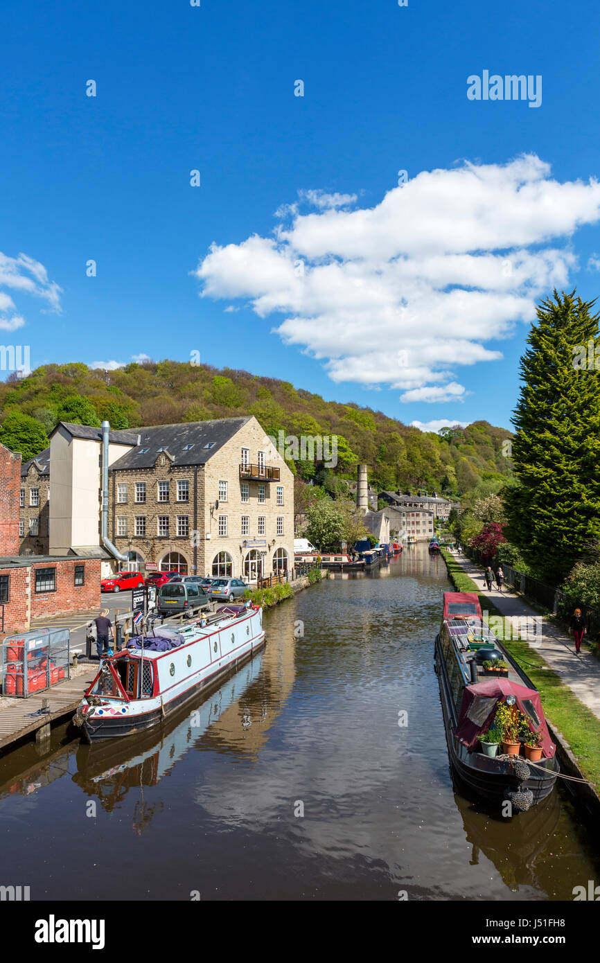
[[[169,623],[103,659],[73,719],[89,742],[157,725],[214,688],[265,643],[259,606],[226,605],[186,628]]]

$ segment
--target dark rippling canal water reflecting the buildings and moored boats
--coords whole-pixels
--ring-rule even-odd
[[[58,729],[0,762],[32,899],[572,899],[600,878],[561,791],[502,820],[453,787],[426,545],[268,612],[262,653],[160,733]],[[193,895],[193,896],[192,896]]]

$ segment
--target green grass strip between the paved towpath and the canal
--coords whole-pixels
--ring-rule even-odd
[[[448,568],[450,581],[458,592],[475,592],[480,600],[482,612],[487,610],[493,615],[504,617],[492,600],[465,573],[462,566],[449,552],[442,549],[441,554]],[[565,686],[561,677],[546,661],[521,638],[502,644],[512,658],[523,667],[532,680],[544,708],[544,713],[552,726],[562,733],[587,781],[600,792],[600,719]]]

